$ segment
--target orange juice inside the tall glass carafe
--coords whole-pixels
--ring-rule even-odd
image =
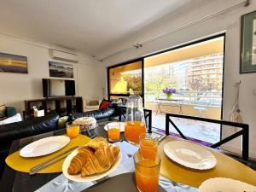
[[[142,121],[127,121],[125,123],[125,138],[131,143],[139,143],[139,137],[146,132]]]

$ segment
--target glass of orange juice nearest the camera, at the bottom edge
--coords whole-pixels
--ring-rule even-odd
[[[137,189],[141,192],[156,192],[160,177],[160,156],[144,159],[140,151],[133,156]]]

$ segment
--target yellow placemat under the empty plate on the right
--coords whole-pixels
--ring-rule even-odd
[[[213,148],[212,154],[217,159],[217,165],[210,170],[194,170],[185,166],[178,165],[170,160],[164,153],[164,145],[171,141],[179,140],[177,137],[166,137],[159,146],[161,158],[160,174],[177,183],[187,184],[198,188],[202,182],[212,177],[228,177],[240,180],[245,183],[256,185],[256,172],[248,166],[241,164],[239,161],[219,153]]]

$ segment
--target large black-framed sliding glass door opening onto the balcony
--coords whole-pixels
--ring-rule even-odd
[[[125,102],[131,92],[140,94],[145,108],[153,111],[153,127],[165,130],[165,113],[222,119],[223,77],[221,34],[108,67],[108,97]],[[172,89],[171,97],[165,89]],[[179,119],[176,123],[187,137],[219,141],[219,125]]]

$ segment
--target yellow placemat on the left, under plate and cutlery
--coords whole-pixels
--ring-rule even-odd
[[[5,162],[9,167],[11,167],[16,171],[30,172],[29,170],[33,166],[37,166],[38,164],[44,162],[45,160],[49,160],[51,157],[57,154],[61,154],[61,152],[66,151],[68,148],[73,148],[75,146],[83,146],[89,141],[90,141],[90,137],[79,135],[78,137],[72,138],[70,143],[68,143],[66,147],[61,148],[60,150],[56,151],[53,154],[44,155],[42,157],[23,158],[23,157],[20,157],[20,150],[19,150],[19,151],[16,151],[14,154],[10,154],[5,159]],[[62,172],[62,163],[64,160],[58,161],[54,165],[45,168],[39,173]]]

